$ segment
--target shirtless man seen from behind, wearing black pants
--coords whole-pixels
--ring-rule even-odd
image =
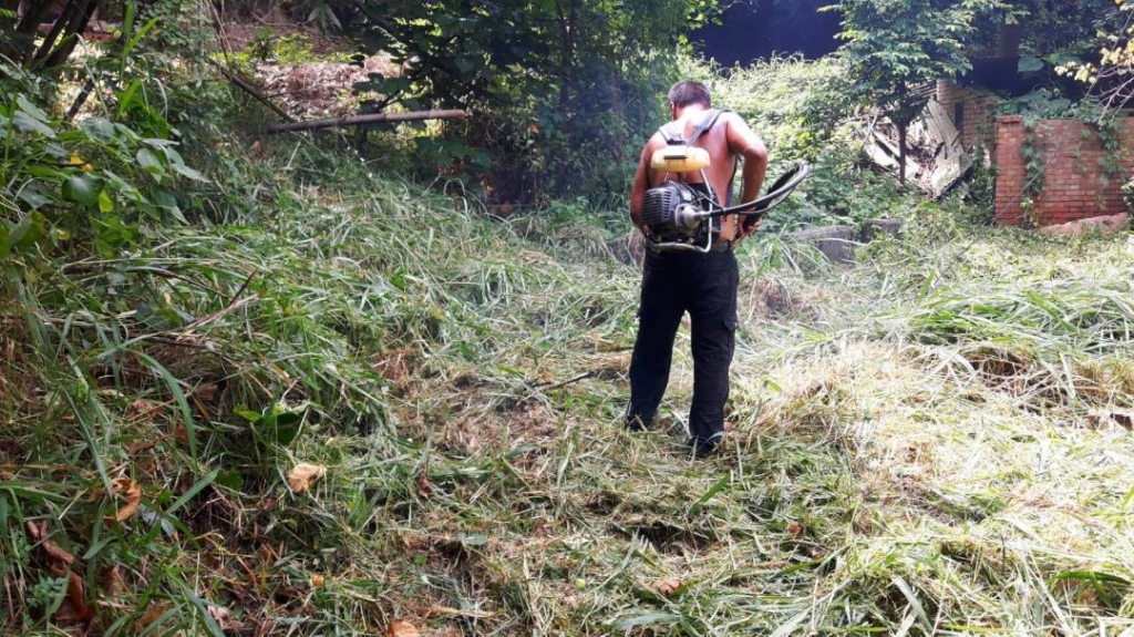
[[[669,90],[670,129],[688,138],[694,128],[711,114],[709,91],[700,82],[683,80]],[[760,137],[733,112],[720,117],[695,143],[709,152],[705,169],[713,192],[728,205],[738,158],[744,159],[741,203],[755,201],[768,168],[768,148]],[[642,226],[645,192],[661,184],[666,173],[651,170],[654,151],[666,146],[659,131],[646,143],[638,161],[631,190],[631,220]],[[704,192],[700,172],[670,175]],[[689,406],[689,447],[699,458],[717,449],[725,433],[725,401],[728,399],[728,368],[733,363],[736,337],[736,289],[739,272],[733,247],[759,228],[759,221],[744,227],[737,215],[720,220],[720,235],[712,252],[646,252],[638,309],[637,341],[631,359],[631,404],[626,426],[649,428],[669,382],[674,338],[682,316],[689,313],[693,350],[693,401]]]

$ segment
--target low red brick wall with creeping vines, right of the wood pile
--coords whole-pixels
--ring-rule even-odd
[[[1122,120],[1124,156],[1122,175],[1107,176],[1100,162],[1106,153],[1098,135],[1081,121],[1042,120],[1035,125],[1035,147],[1046,155],[1043,190],[1034,197],[1040,226],[1066,223],[1089,216],[1119,214],[1123,181],[1134,172],[1134,119]],[[1022,199],[1027,181],[1024,158],[1024,120],[1019,116],[996,120],[996,219],[999,223],[1019,224],[1024,218]]]

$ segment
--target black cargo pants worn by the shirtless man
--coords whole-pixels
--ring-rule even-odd
[[[736,340],[739,267],[731,250],[651,253],[642,275],[637,341],[631,358],[631,427],[649,427],[669,382],[674,338],[688,312],[692,325],[694,445],[713,447],[725,431],[728,368]]]

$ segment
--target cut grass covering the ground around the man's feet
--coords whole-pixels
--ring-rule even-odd
[[[2,630],[78,601],[119,635],[1134,630],[1120,240],[750,246],[695,462],[684,330],[659,431],[620,427],[635,272],[404,186],[281,201],[6,271]]]

